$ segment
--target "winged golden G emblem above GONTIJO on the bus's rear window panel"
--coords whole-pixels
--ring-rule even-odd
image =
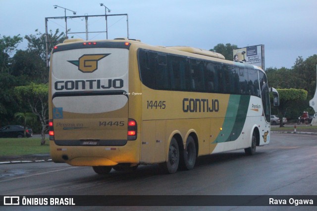
[[[85,54],[79,57],[78,60],[68,61],[73,65],[78,67],[83,73],[92,73],[98,69],[98,61],[110,55],[110,53],[106,54]]]

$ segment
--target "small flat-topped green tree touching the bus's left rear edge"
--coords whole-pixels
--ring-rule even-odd
[[[48,131],[48,95],[49,86],[48,84],[34,84],[25,86],[17,86],[14,89],[15,94],[20,102],[26,102],[32,113],[35,114],[42,125],[42,139],[41,145],[45,144],[45,134]]]

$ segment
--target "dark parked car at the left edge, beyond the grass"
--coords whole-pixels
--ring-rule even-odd
[[[33,131],[31,128],[26,127],[26,137],[32,137]],[[0,128],[0,138],[23,138],[24,127],[23,126],[4,126]]]

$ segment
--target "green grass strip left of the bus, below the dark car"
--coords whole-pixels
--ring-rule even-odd
[[[41,138],[0,138],[0,156],[49,153],[49,140],[45,140],[41,145]]]

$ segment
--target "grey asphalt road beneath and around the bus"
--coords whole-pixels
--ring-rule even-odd
[[[316,135],[271,134],[270,144],[258,147],[254,156],[246,156],[243,150],[204,156],[193,170],[174,174],[161,174],[157,165],[140,166],[133,173],[112,169],[102,176],[91,167],[52,162],[3,164],[0,195],[317,195],[316,164]],[[23,210],[27,208],[30,207]],[[316,207],[266,208],[216,210],[316,210]],[[211,208],[196,207],[205,209]]]

